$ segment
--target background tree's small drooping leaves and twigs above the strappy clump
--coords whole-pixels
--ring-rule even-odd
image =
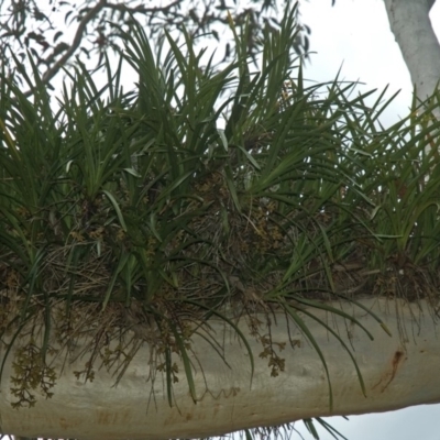
[[[282,9],[283,2],[282,2]],[[85,62],[96,58],[101,66],[105,54],[119,52],[123,46],[123,32],[133,21],[143,24],[147,35],[158,43],[164,30],[182,33],[185,29],[191,38],[221,41],[228,28],[228,14],[238,28],[246,25],[248,51],[252,57],[262,47],[263,30],[279,29],[279,4],[276,0],[257,0],[242,7],[237,1],[201,0],[174,1],[90,1],[84,3],[56,0],[1,0],[0,2],[0,55],[7,62],[11,51],[24,61],[29,51],[48,82],[61,68],[76,58]],[[298,20],[298,14],[297,14]],[[114,26],[113,24],[118,24]],[[66,29],[74,32],[67,35]],[[307,26],[301,36],[292,42],[295,50],[307,52]],[[232,41],[222,44],[223,61],[231,58]],[[254,58],[255,59],[255,58]],[[74,62],[75,63],[75,62]],[[15,70],[13,64],[9,68]]]

